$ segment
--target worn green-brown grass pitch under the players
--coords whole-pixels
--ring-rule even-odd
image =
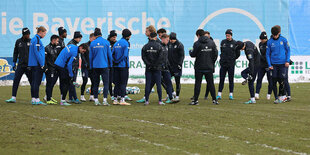
[[[220,105],[203,99],[204,84],[200,105],[189,106],[194,85],[184,84],[172,105],[159,106],[153,93],[149,106],[64,107],[30,105],[29,86],[7,104],[11,87],[1,87],[0,154],[310,154],[309,83],[291,84],[292,101],[279,105],[266,100],[266,84],[253,105],[243,104],[247,86],[235,84],[232,101],[227,88]],[[58,86],[53,96],[60,98]]]

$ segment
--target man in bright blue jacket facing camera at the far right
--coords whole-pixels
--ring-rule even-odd
[[[267,42],[266,59],[269,69],[272,70],[273,93],[275,104],[282,103],[284,96],[284,80],[287,78],[290,65],[290,46],[286,38],[281,36],[281,27],[276,25],[271,28],[272,38]],[[277,94],[279,83],[279,95]],[[280,97],[279,97],[280,96]]]

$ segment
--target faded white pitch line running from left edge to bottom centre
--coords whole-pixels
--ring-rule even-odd
[[[9,110],[8,110],[9,111]],[[19,113],[17,111],[9,111],[9,112],[13,112],[13,113]],[[21,113],[23,114],[23,113]],[[28,115],[28,114],[24,114],[24,115]],[[105,130],[105,129],[95,129],[94,127],[92,126],[87,126],[87,125],[82,125],[82,124],[78,124],[78,123],[72,123],[72,122],[68,122],[68,121],[62,121],[62,120],[59,120],[59,119],[54,119],[54,118],[49,118],[49,117],[41,117],[41,116],[35,116],[35,115],[30,115],[32,116],[33,118],[37,118],[37,119],[43,119],[43,120],[50,120],[52,122],[60,122],[60,123],[64,123],[66,126],[73,126],[73,127],[77,127],[77,128],[80,128],[80,129],[87,129],[87,130],[90,130],[90,131],[94,131],[94,132],[99,132],[99,133],[104,133],[104,134],[117,134],[115,132],[112,132],[110,130]],[[160,124],[160,123],[157,123],[156,125],[161,125],[163,126],[164,124]],[[196,155],[197,153],[191,153],[191,152],[188,152],[188,151],[184,151],[184,150],[181,150],[179,148],[174,148],[174,147],[170,147],[170,146],[167,146],[165,144],[160,144],[160,143],[155,143],[155,142],[150,142],[146,139],[141,139],[139,137],[134,137],[134,136],[131,136],[131,135],[128,135],[128,134],[119,134],[120,136],[122,137],[126,137],[126,138],[129,138],[131,140],[137,140],[139,142],[143,142],[143,143],[147,143],[147,144],[151,144],[151,145],[154,145],[154,146],[158,146],[158,147],[163,147],[163,148],[166,148],[168,150],[175,150],[175,151],[181,151],[183,153],[186,153],[186,154],[193,154],[193,155]]]

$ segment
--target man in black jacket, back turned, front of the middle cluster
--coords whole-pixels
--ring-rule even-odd
[[[149,105],[149,95],[151,89],[156,84],[158,93],[158,104],[165,105],[162,102],[162,91],[161,91],[161,70],[163,61],[163,47],[156,41],[156,32],[150,33],[150,40],[142,48],[141,55],[145,67],[145,103]]]

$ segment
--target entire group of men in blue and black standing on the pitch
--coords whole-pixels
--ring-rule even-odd
[[[89,101],[94,101],[95,105],[109,105],[107,101],[108,93],[111,95],[113,105],[131,105],[126,101],[131,100],[126,95],[126,86],[129,78],[129,50],[131,31],[124,29],[122,38],[117,41],[117,34],[112,30],[107,39],[102,37],[101,29],[95,28],[94,33],[89,36],[89,41],[83,44],[82,34],[74,32],[73,39],[65,45],[64,39],[67,31],[63,27],[58,28],[59,35],[52,35],[50,44],[43,46],[41,39],[46,35],[46,29],[41,26],[37,28],[37,34],[30,39],[28,28],[22,29],[22,38],[15,43],[13,54],[13,69],[15,77],[12,88],[12,98],[6,100],[8,103],[16,102],[17,89],[23,74],[26,74],[31,84],[31,103],[33,105],[58,104],[52,97],[53,87],[59,79],[61,100],[60,105],[71,105],[70,103],[80,104],[85,102],[85,87],[88,78],[91,80],[91,91]],[[275,103],[290,100],[290,87],[288,84],[288,66],[290,64],[290,48],[287,40],[280,35],[281,27],[274,26],[271,29],[272,36],[267,39],[266,32],[260,35],[261,42],[258,48],[250,41],[235,41],[233,32],[228,29],[225,32],[226,39],[221,42],[220,54],[220,83],[218,95],[216,96],[213,73],[215,62],[218,58],[217,47],[208,31],[199,29],[196,31],[198,40],[194,43],[189,55],[195,58],[195,88],[194,96],[190,105],[198,105],[201,82],[203,76],[207,81],[205,99],[209,92],[212,102],[219,104],[222,99],[222,90],[226,74],[229,79],[229,99],[233,100],[235,61],[240,56],[240,51],[244,50],[249,61],[249,67],[241,72],[245,79],[243,84],[248,83],[251,99],[246,104],[256,103],[259,99],[259,92],[262,79],[267,74],[268,94],[270,99],[272,91],[275,95]],[[182,65],[184,61],[184,46],[177,39],[177,34],[161,28],[156,31],[150,25],[146,28],[145,35],[148,43],[141,50],[142,60],[145,63],[145,94],[138,103],[150,104],[149,95],[153,86],[156,84],[159,105],[174,103],[179,101],[181,90]],[[159,38],[158,38],[159,37]],[[82,60],[80,62],[80,59]],[[18,61],[18,65],[16,63]],[[76,94],[75,81],[78,68],[81,66],[83,83],[81,86],[80,100]],[[46,96],[44,100],[39,99],[39,87],[42,76],[46,75]],[[256,93],[254,93],[254,81],[258,76]],[[174,91],[171,78],[174,77],[176,91]],[[100,80],[103,81],[103,101],[98,100],[98,88]],[[279,94],[277,82],[280,84]],[[114,90],[112,89],[114,83]],[[167,97],[162,100],[162,88],[164,87]],[[69,101],[66,95],[69,92]],[[286,97],[287,95],[287,97]],[[165,101],[165,102],[163,102]]]

